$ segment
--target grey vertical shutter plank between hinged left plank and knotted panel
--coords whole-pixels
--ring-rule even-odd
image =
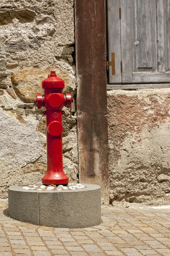
[[[131,0],[120,0],[122,83],[132,82]]]

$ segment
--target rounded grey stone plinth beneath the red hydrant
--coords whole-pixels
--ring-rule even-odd
[[[8,189],[11,218],[48,227],[91,227],[101,223],[100,186],[84,189],[37,191],[23,186]]]

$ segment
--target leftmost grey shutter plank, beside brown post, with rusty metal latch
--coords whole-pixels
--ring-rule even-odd
[[[121,44],[120,44],[120,0],[108,0],[108,61],[115,53],[115,75],[109,67],[109,83],[122,83]]]

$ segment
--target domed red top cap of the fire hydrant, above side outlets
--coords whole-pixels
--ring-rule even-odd
[[[42,81],[43,89],[52,89],[52,88],[64,88],[64,80],[57,77],[55,71],[51,71],[51,74],[48,75],[48,78]]]

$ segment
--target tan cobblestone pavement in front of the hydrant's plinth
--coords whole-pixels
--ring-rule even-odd
[[[39,227],[8,217],[0,200],[0,256],[170,256],[170,207],[102,207],[102,224]]]

